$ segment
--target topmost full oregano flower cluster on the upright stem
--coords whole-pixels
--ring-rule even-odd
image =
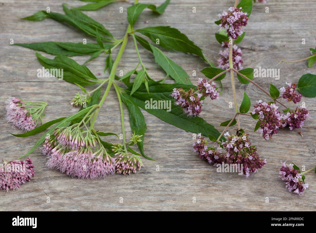
[[[221,24],[218,26],[221,29],[227,29],[229,38],[236,39],[243,33],[243,27],[247,25],[248,17],[246,12],[242,12],[241,8],[230,7],[227,11],[223,11],[218,16],[221,19]]]

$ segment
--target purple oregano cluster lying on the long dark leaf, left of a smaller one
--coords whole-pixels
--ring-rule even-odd
[[[202,111],[203,100],[200,100],[202,94],[195,94],[191,88],[188,91],[182,88],[174,88],[171,96],[176,100],[175,104],[183,108],[183,112],[188,116],[198,116]]]

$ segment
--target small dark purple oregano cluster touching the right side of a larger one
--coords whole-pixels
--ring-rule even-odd
[[[295,110],[289,110],[285,116],[285,125],[289,126],[290,130],[295,128],[302,128],[304,120],[309,118],[309,114],[306,108],[298,108]]]

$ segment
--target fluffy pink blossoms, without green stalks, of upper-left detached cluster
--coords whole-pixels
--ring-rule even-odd
[[[12,128],[19,128],[23,131],[29,131],[36,127],[31,114],[26,109],[23,100],[18,98],[10,98],[6,102],[6,120],[12,123]]]

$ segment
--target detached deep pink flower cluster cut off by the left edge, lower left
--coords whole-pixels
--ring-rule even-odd
[[[9,192],[19,189],[22,184],[34,176],[34,165],[31,158],[25,161],[15,160],[0,165],[0,189]]]

